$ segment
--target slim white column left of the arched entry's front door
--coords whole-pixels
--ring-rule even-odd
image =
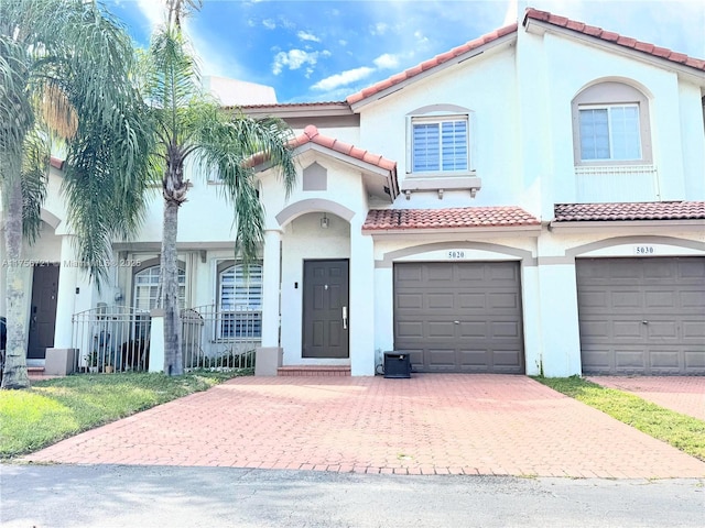
[[[279,346],[280,242],[278,229],[264,231],[262,264],[262,346]]]

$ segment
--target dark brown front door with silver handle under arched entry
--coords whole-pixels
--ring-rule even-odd
[[[348,261],[304,261],[303,358],[349,358]]]

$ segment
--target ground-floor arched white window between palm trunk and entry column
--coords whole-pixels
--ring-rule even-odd
[[[217,321],[215,328],[216,341],[260,341],[262,339],[262,295],[263,295],[263,264],[261,261],[250,264],[250,277],[245,286],[247,288],[247,309],[238,309],[245,304],[234,304],[234,309],[224,309],[224,277],[232,274],[232,297],[237,298],[238,276],[243,277],[242,272],[238,274],[238,268],[242,268],[240,261],[221,261],[216,268],[216,312]],[[250,283],[253,277],[253,268],[259,267],[258,280]],[[259,304],[252,301],[252,288],[259,288]],[[258,294],[256,294],[258,295]],[[226,327],[230,331],[226,331]],[[242,330],[245,329],[245,334]]]

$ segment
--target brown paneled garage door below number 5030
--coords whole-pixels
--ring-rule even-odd
[[[705,258],[576,261],[583,372],[705,374]]]

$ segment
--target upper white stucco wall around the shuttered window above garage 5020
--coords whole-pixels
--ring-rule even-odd
[[[364,107],[360,110],[360,144],[394,160],[401,185],[404,178],[411,177],[406,174],[410,170],[406,167],[406,116],[432,105],[466,108],[471,111],[469,133],[473,165],[477,176],[482,179],[482,188],[471,202],[466,191],[462,194],[462,199],[466,206],[517,204],[521,199],[522,184],[518,170],[516,92],[514,47],[491,50],[415,80]],[[446,189],[444,200],[453,201],[453,195]],[[434,199],[434,193],[414,194],[411,206],[403,196],[397,199],[397,204],[399,207],[426,207],[429,199]],[[454,207],[445,202],[437,204],[437,197],[435,200],[436,204],[430,207]]]

